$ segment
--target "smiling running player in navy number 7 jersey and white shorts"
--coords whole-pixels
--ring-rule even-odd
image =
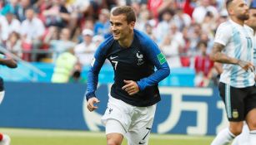
[[[114,83],[102,118],[108,145],[120,145],[123,137],[129,145],[148,144],[156,104],[160,101],[158,82],[170,73],[163,53],[148,36],[134,29],[135,22],[132,7],[113,8],[113,35],[98,46],[88,71],[87,107],[93,111],[99,103],[95,96],[98,73],[106,59],[113,65]]]

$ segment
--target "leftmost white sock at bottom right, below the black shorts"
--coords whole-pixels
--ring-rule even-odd
[[[235,138],[235,135],[233,135],[228,128],[224,128],[217,134],[216,138],[213,139],[211,145],[228,145],[233,138]]]

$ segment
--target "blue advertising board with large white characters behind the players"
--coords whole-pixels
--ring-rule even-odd
[[[85,84],[7,82],[0,127],[103,131],[111,85],[98,85],[98,110],[89,112]],[[217,88],[160,87],[153,133],[212,135],[227,119]]]

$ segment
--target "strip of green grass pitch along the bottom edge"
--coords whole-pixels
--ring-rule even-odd
[[[0,128],[12,138],[11,145],[104,145],[104,133],[85,131]],[[149,145],[208,145],[213,137],[170,134],[150,135]],[[123,145],[127,145],[124,140]]]

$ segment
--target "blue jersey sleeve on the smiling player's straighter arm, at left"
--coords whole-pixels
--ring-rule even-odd
[[[90,66],[90,70],[88,71],[88,82],[87,82],[87,91],[86,91],[86,99],[90,99],[96,97],[95,91],[98,85],[98,74],[101,70],[104,61],[106,60],[107,50],[109,46],[109,41],[103,42],[100,46],[98,46],[97,51],[94,54],[93,61]]]

